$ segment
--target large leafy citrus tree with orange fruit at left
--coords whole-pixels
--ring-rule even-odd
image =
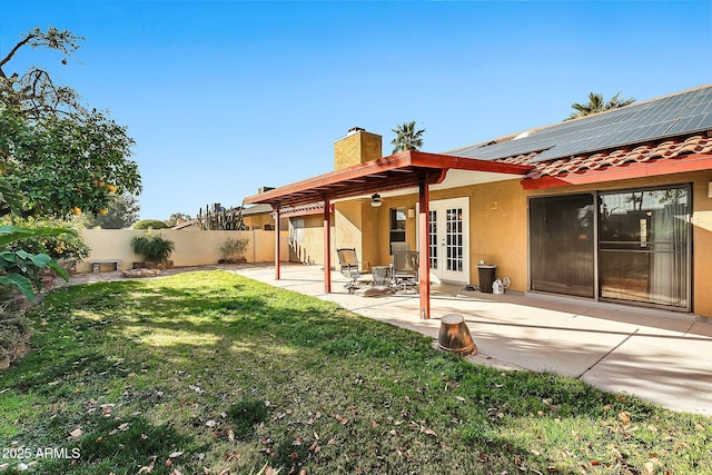
[[[4,71],[26,47],[59,51],[67,63],[82,40],[37,28],[0,59],[0,174],[22,197],[23,217],[98,214],[115,192],[141,190],[125,127],[108,112],[85,108],[73,89],[56,86],[44,69],[32,66],[22,76]],[[9,202],[0,204],[0,217],[10,212]]]

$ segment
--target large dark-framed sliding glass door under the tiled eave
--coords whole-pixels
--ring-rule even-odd
[[[689,202],[686,185],[532,198],[531,289],[689,310]]]

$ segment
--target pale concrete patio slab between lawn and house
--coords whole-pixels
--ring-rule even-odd
[[[689,314],[547,296],[482,294],[433,286],[429,320],[416,294],[349,295],[333,273],[324,291],[319,266],[237,268],[240,275],[339,304],[356,314],[437,338],[441,317],[461,314],[478,347],[475,363],[553,372],[607,392],[712,416],[712,323]]]

